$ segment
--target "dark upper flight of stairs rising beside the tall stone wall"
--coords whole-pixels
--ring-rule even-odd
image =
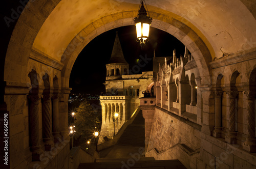
[[[145,120],[142,117],[142,110],[133,123],[126,127],[117,145],[145,147]]]

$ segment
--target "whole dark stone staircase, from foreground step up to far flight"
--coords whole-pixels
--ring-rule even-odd
[[[179,160],[155,160],[154,157],[144,157],[144,140],[145,122],[140,110],[116,145],[100,151],[100,158],[95,159],[95,162],[80,163],[78,169],[185,169]]]

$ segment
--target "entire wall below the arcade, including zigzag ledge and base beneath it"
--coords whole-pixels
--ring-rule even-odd
[[[157,106],[152,122],[146,156],[179,159],[187,168],[196,168],[201,126]]]

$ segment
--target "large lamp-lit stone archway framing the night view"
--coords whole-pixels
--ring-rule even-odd
[[[9,45],[3,68],[6,82],[4,98],[12,121],[10,137],[13,139],[10,140],[10,144],[13,147],[10,149],[10,161],[13,167],[27,163],[25,158],[18,156],[30,153],[27,144],[30,135],[28,128],[23,128],[29,125],[29,72],[34,70],[37,73],[39,92],[44,90],[42,76],[45,73],[51,79],[50,86],[54,87],[55,84],[56,93],[60,95],[57,100],[59,105],[55,106],[56,109],[60,107],[59,125],[56,126],[59,127],[62,136],[68,138],[64,132],[68,128],[69,76],[77,55],[101,33],[115,27],[133,25],[138,3],[132,0],[96,0],[93,3],[82,0],[28,2],[17,20],[10,41],[7,42]],[[147,4],[154,19],[152,27],[175,36],[193,54],[201,77],[200,85],[205,88],[208,95],[211,90],[208,88],[211,84],[209,62],[239,52],[241,54],[255,51],[256,37],[252,36],[256,27],[253,17],[255,12],[250,12],[251,9],[248,10],[241,1],[227,1],[220,5],[219,1],[175,0],[156,4],[154,0],[148,0]],[[46,36],[45,33],[49,34]],[[57,81],[53,82],[53,77],[56,77]],[[207,97],[204,98],[206,106],[208,102],[205,100]],[[206,110],[203,124],[214,126],[210,121],[211,117]],[[206,128],[204,132],[208,132]],[[68,148],[69,146],[65,147]],[[66,153],[64,157],[69,158],[69,154]]]

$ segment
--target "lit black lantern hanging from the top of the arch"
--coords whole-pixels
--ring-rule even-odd
[[[145,0],[141,0],[138,15],[136,18],[134,18],[134,23],[136,26],[136,33],[137,33],[137,41],[140,42],[141,47],[143,47],[145,43],[148,41],[148,35],[150,34],[150,25],[152,22],[150,13],[148,12],[148,10],[144,8],[143,2],[145,3],[145,7],[146,7]],[[148,16],[147,16],[147,12],[148,12]]]

